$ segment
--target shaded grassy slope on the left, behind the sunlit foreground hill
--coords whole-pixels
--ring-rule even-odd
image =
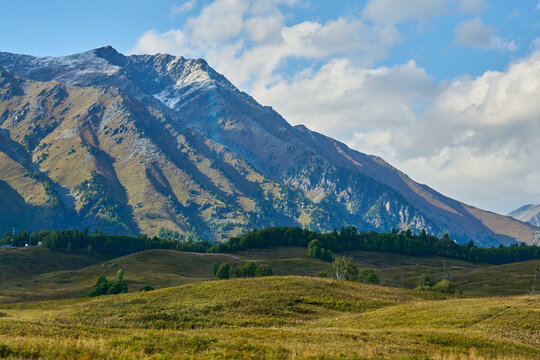
[[[0,283],[0,303],[85,297],[90,294],[99,276],[114,278],[118,269],[126,273],[129,290],[138,291],[145,285],[164,288],[212,280],[212,267],[215,263],[228,262],[237,266],[253,261],[271,265],[276,275],[307,276],[315,276],[328,264],[307,257],[306,249],[303,248],[280,248],[239,254],[148,250],[115,259],[100,255],[72,255],[40,247],[17,249],[16,254],[18,262],[12,260],[9,266],[4,264],[4,274],[14,273],[16,276],[11,279],[5,276]],[[30,256],[31,260],[22,258],[20,254]],[[25,267],[32,266],[34,262],[40,265],[34,268],[33,273],[25,274]],[[58,271],[49,271],[50,269]]]

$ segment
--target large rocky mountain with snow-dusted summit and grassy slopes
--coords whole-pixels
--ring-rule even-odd
[[[418,184],[383,159],[291,126],[204,60],[0,53],[0,230],[448,232],[477,244],[540,229]]]

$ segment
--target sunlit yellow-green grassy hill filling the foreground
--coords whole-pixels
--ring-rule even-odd
[[[444,298],[309,277],[0,306],[0,355],[540,359],[540,297]]]

